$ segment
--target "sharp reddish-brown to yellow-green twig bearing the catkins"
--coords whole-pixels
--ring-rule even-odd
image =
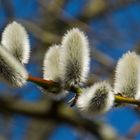
[[[33,76],[28,77],[28,81],[33,82],[37,84],[38,86],[49,90],[51,92],[57,93],[61,91],[62,88],[66,88],[66,90],[72,91],[75,94],[79,96],[79,94],[82,92],[82,89],[80,87],[62,87],[59,83],[51,81],[51,80],[44,80],[42,78],[37,78]],[[117,103],[127,103],[127,104],[133,104],[140,106],[140,100],[135,100],[133,98],[126,98],[119,95],[115,95],[115,102]]]

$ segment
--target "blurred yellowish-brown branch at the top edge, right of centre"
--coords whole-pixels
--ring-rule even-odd
[[[136,3],[138,0],[117,0],[115,2],[106,2],[105,0],[90,0],[85,8],[83,14],[79,19],[82,21],[89,21],[90,19],[100,18],[110,11],[118,10],[131,3]]]

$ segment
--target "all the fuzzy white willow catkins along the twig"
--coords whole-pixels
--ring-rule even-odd
[[[16,87],[25,85],[28,72],[30,43],[25,28],[12,22],[2,33],[0,45],[0,79]],[[114,87],[107,81],[83,87],[90,68],[90,47],[87,36],[78,28],[73,28],[62,37],[59,45],[50,46],[43,60],[43,78],[53,80],[65,87],[58,94],[47,94],[57,99],[66,96],[66,89],[78,87],[77,109],[90,115],[98,115],[112,108],[115,94],[124,97],[140,98],[140,57],[128,52],[119,59],[116,66]]]

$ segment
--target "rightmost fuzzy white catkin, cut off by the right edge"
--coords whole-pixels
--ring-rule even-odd
[[[115,73],[114,92],[136,98],[140,57],[135,52],[125,53],[118,61]]]

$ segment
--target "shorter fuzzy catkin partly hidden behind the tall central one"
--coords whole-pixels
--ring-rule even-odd
[[[46,80],[60,80],[61,46],[53,45],[47,50],[43,62],[43,78]]]

